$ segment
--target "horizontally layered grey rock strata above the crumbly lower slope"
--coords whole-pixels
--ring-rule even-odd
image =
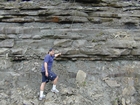
[[[139,59],[139,4],[97,2],[1,3],[0,56],[42,59],[54,47],[59,60]]]

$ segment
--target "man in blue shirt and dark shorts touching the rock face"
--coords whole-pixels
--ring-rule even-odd
[[[44,58],[42,69],[41,69],[42,83],[41,83],[41,86],[40,86],[39,100],[42,100],[43,98],[45,98],[44,88],[45,88],[46,83],[49,82],[49,80],[53,81],[53,87],[52,87],[51,91],[54,92],[54,93],[59,92],[56,89],[58,76],[51,70],[54,58],[58,57],[59,55],[61,55],[61,53],[54,54],[54,49],[51,48],[49,50],[48,54]]]

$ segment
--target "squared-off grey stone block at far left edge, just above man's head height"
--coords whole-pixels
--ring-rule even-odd
[[[6,39],[0,42],[1,48],[11,48],[14,46],[14,39]]]

